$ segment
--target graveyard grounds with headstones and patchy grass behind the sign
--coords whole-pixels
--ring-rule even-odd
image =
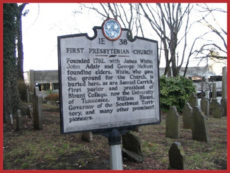
[[[42,100],[38,87],[34,93],[29,111],[22,116],[18,110],[13,123],[4,125],[4,168],[110,169],[106,137],[92,132],[63,136],[59,104]],[[122,136],[123,168],[226,169],[227,117],[221,112],[207,115],[197,100],[191,95],[180,111],[175,106],[161,111],[160,124],[140,126]],[[215,106],[223,110],[219,103]]]

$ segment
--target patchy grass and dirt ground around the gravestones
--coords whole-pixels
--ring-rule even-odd
[[[185,169],[227,168],[226,117],[208,118],[208,143],[192,140],[192,132],[182,128],[180,138],[165,137],[165,116],[158,125],[141,126],[133,132],[141,140],[144,161],[136,163],[123,158],[125,170],[168,169],[170,145],[180,142],[184,150]],[[92,142],[80,133],[61,134],[58,107],[43,105],[43,129],[34,130],[32,119],[24,117],[24,127],[15,131],[4,124],[4,169],[110,169],[106,137],[94,135]]]

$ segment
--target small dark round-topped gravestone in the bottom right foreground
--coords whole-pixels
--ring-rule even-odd
[[[174,142],[169,149],[169,169],[184,169],[184,150],[179,142]]]

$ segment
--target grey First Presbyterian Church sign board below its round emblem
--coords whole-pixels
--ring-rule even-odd
[[[58,37],[62,132],[159,123],[157,42],[94,31]]]

